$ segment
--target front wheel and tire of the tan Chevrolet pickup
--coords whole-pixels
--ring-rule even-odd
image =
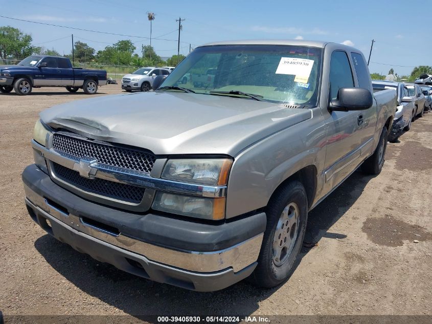
[[[292,274],[305,236],[307,211],[306,191],[299,181],[287,183],[270,199],[258,266],[250,277],[255,285],[275,287]]]

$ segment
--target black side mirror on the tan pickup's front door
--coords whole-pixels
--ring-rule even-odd
[[[348,112],[351,110],[369,109],[373,104],[373,97],[368,89],[340,88],[337,98],[329,104],[330,111]]]

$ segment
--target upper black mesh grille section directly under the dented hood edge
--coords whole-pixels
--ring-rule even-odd
[[[156,157],[142,150],[113,146],[54,134],[53,148],[78,158],[94,158],[98,163],[150,173]]]

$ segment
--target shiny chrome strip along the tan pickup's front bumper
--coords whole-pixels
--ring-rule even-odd
[[[73,214],[66,214],[50,205],[46,199],[37,195],[27,185],[24,185],[24,189],[26,192],[26,204],[48,219],[54,217],[70,228],[74,228],[106,243],[141,254],[154,262],[190,271],[214,272],[226,268],[233,268],[234,272],[240,271],[257,261],[264,235],[264,233],[261,233],[251,239],[219,251],[172,250],[132,239],[122,233],[111,233],[95,226],[88,226],[88,224],[82,221],[82,218]]]

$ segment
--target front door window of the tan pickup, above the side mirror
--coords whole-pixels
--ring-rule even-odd
[[[333,52],[330,60],[330,98],[336,99],[340,88],[352,87],[354,87],[354,79],[347,53]]]

